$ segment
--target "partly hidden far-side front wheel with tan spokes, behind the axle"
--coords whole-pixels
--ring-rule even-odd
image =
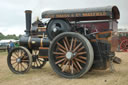
[[[33,69],[41,68],[46,64],[46,61],[43,58],[39,58],[38,54],[39,54],[39,50],[32,51],[32,56],[33,56],[32,68]]]

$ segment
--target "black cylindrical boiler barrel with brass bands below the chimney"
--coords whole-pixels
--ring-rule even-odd
[[[31,36],[22,36],[20,38],[20,46],[30,49],[39,49],[39,47],[49,47],[50,41],[48,38],[38,38]]]

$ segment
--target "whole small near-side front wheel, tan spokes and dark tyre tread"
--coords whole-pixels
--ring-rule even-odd
[[[32,55],[25,47],[16,47],[7,57],[9,69],[16,74],[28,72],[32,65]]]

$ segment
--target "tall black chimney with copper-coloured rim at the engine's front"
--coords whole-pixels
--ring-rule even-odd
[[[30,35],[30,29],[31,29],[31,17],[32,17],[32,11],[31,10],[26,10],[25,11],[25,17],[26,17],[26,35]]]

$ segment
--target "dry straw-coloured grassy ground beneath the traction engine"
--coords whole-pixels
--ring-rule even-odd
[[[128,85],[128,53],[117,52],[121,64],[114,64],[116,72],[93,70],[79,79],[65,79],[51,69],[47,63],[42,69],[31,69],[28,73],[12,73],[7,66],[7,53],[0,53],[0,85]]]

